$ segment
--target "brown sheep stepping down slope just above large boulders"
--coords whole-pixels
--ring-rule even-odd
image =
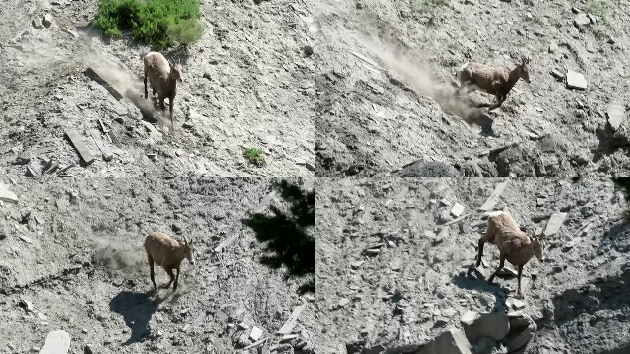
[[[520,278],[523,275],[523,267],[527,262],[536,256],[539,261],[544,262],[544,248],[546,239],[537,237],[534,232],[520,231],[518,225],[507,212],[495,212],[488,217],[488,229],[486,234],[479,239],[479,249],[477,254],[476,267],[481,264],[483,257],[483,244],[489,242],[496,244],[499,249],[500,261],[499,268],[492,273],[488,279],[489,283],[495,278],[496,273],[503,269],[503,264],[507,259],[513,265],[518,267],[518,295],[522,298],[523,293],[520,290]]]

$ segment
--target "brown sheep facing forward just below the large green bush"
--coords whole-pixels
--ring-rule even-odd
[[[158,52],[149,52],[144,56],[144,99],[149,98],[147,93],[147,77],[153,89],[153,95],[157,92],[159,106],[164,111],[164,99],[168,98],[168,111],[171,115],[171,129],[175,130],[173,122],[173,100],[177,94],[177,81],[181,79],[181,64],[166,60],[164,55]]]

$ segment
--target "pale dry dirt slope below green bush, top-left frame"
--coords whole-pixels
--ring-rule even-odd
[[[144,101],[142,56],[149,47],[129,38],[109,41],[83,27],[98,1],[3,1],[0,171],[21,176],[30,166],[40,173],[52,159],[60,166],[76,163],[68,171],[74,176],[312,176],[315,66],[304,47],[313,44],[317,29],[312,4],[290,5],[202,1],[202,39],[188,54],[167,53],[183,65],[176,131],[169,132],[168,106],[164,116]],[[45,13],[52,25],[38,30],[32,21]],[[117,102],[91,84],[84,75],[88,67],[124,98]],[[101,130],[98,119],[120,144]],[[159,133],[150,136],[142,120]],[[194,127],[182,127],[185,122]],[[85,133],[92,128],[113,151],[109,163]],[[77,130],[95,155],[88,167],[79,167],[65,135],[69,129]],[[266,166],[249,164],[244,147],[262,149]],[[31,157],[26,166],[16,163],[23,153]]]

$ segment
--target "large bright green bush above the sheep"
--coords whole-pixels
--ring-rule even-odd
[[[201,38],[200,17],[197,0],[101,0],[94,24],[107,37],[130,31],[135,40],[164,49]]]

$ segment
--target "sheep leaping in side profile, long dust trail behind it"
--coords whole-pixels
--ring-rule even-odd
[[[481,104],[478,107],[491,106],[490,111],[494,110],[505,101],[518,79],[524,79],[528,84],[532,82],[527,64],[529,64],[529,55],[521,56],[521,64],[512,71],[502,67],[467,62],[455,72],[455,79],[460,83],[455,95],[461,97],[462,94],[467,95],[477,90],[493,94],[496,97],[495,105]]]

